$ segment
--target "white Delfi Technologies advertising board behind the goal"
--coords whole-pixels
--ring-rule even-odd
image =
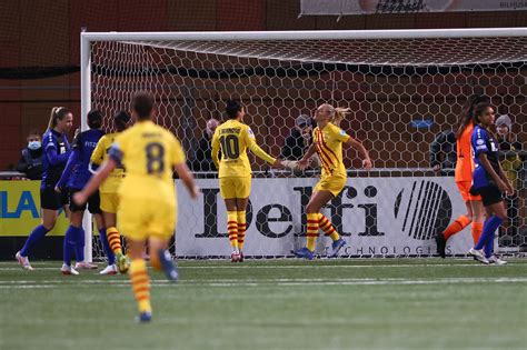
[[[246,256],[290,256],[306,242],[304,208],[315,178],[253,179],[247,216]],[[176,253],[187,257],[229,256],[226,208],[217,179],[198,180],[202,193],[192,201],[182,183],[178,191]],[[428,256],[435,234],[466,208],[453,178],[350,178],[338,198],[324,209],[347,241],[341,256]],[[448,241],[447,253],[465,254],[469,228]],[[320,232],[317,253],[330,239]]]

